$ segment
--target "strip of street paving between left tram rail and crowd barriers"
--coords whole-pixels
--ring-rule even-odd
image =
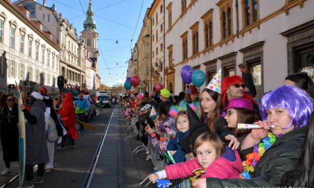
[[[127,138],[131,131],[126,128],[124,114],[117,107],[90,187],[145,187],[139,183],[153,172],[154,166],[150,160],[145,160],[145,151],[132,153],[140,144]],[[147,187],[156,187],[156,184]]]

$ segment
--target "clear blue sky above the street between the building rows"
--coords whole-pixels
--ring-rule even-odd
[[[37,2],[42,4],[43,0]],[[80,36],[89,0],[46,1],[48,7],[54,2],[57,11],[74,24]],[[96,30],[99,33],[98,63],[102,83],[108,86],[124,83],[128,67],[126,62],[131,57],[131,48],[137,42],[146,10],[152,2],[153,0],[92,0]]]

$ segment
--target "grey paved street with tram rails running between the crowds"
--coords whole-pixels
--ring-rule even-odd
[[[139,144],[126,138],[131,131],[127,132],[123,113],[118,106],[105,108],[95,119],[90,120],[96,129],[92,131],[85,128],[81,131],[81,137],[76,140],[77,149],[55,151],[55,168],[49,173],[45,172],[44,183],[35,184],[35,187],[84,187],[113,110],[90,187],[141,187],[139,182],[152,172],[153,164],[145,160],[144,151],[132,153]],[[2,170],[4,162],[0,162]],[[0,176],[1,185],[17,174],[18,163],[14,162],[11,168],[10,175]],[[18,182],[15,181],[8,187],[17,186]]]

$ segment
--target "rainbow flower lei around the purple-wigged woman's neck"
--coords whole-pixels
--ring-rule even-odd
[[[246,160],[242,162],[244,166],[244,171],[239,174],[238,178],[240,179],[250,179],[252,178],[249,172],[253,172],[257,162],[260,160],[260,157],[263,156],[264,152],[276,141],[276,136],[268,132],[268,135],[262,139],[263,142],[254,144],[254,150],[252,153],[249,153],[245,156]]]

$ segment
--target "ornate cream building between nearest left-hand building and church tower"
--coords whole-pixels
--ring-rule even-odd
[[[19,0],[15,4],[30,9],[30,18],[40,21],[43,29],[51,32],[52,39],[59,44],[61,48],[59,75],[66,79],[66,90],[76,85],[85,88],[85,43],[77,35],[74,25],[62,17],[55,4],[52,7],[46,6],[46,0],[43,0],[43,4],[36,0]]]

